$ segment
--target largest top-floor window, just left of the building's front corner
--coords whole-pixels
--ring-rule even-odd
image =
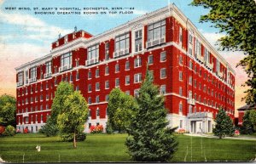
[[[148,25],[148,41],[166,37],[166,20]]]

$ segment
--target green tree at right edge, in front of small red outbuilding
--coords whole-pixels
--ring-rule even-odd
[[[242,118],[241,133],[250,134],[256,132],[256,110],[246,110]]]

